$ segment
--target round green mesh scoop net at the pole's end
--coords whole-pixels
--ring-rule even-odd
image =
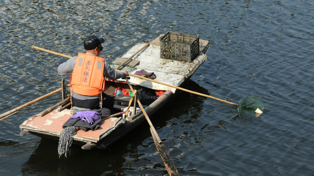
[[[257,116],[261,113],[257,113],[255,111],[257,109],[263,111],[264,106],[258,97],[254,95],[247,95],[239,101],[237,109],[241,116]]]

